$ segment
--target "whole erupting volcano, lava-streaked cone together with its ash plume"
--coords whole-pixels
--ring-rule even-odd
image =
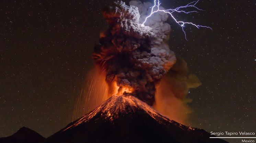
[[[86,102],[94,102],[90,98],[95,96],[91,94],[95,86],[100,87],[96,92],[101,100],[109,99],[49,137],[47,143],[225,142],[176,122],[189,112],[184,106],[188,89],[201,83],[188,75],[186,62],[176,58],[166,44],[171,31],[165,23],[168,14],[160,11],[147,17],[150,6],[149,2],[130,1],[128,6],[116,1],[103,11],[109,28],[101,32],[100,45],[94,47],[97,73],[88,84]],[[141,24],[146,17],[148,21]]]

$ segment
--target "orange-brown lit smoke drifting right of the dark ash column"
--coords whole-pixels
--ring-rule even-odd
[[[187,125],[191,110],[186,103],[191,102],[191,99],[186,98],[186,95],[189,88],[200,85],[197,76],[189,74],[185,60],[177,57],[177,62],[156,86],[153,107],[166,117]]]

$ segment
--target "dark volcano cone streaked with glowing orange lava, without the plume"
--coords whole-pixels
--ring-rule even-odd
[[[225,143],[170,120],[134,96],[112,96],[45,143]]]

